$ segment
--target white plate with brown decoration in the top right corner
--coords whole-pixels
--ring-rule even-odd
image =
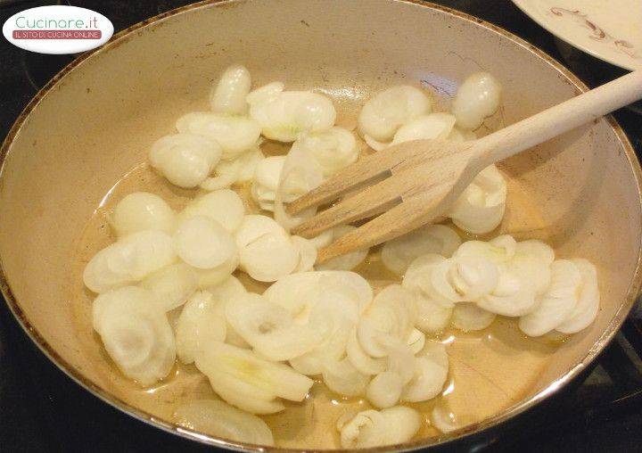
[[[629,70],[642,68],[642,0],[513,0],[567,43]]]

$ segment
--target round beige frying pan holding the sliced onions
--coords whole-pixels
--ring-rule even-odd
[[[370,95],[399,83],[448,97],[466,75],[490,70],[504,101],[482,134],[587,87],[520,38],[434,4],[233,0],[136,24],[70,63],[36,95],[1,154],[2,291],[13,314],[48,358],[112,406],[178,435],[254,450],[173,423],[181,394],[211,395],[193,370],[179,367],[152,390],[120,375],[92,331],[92,295],[80,277],[87,259],[112,241],[103,213],[113,200],[151,190],[177,209],[185,204],[190,194],[155,175],[144,164],[146,153],[173,131],[177,117],[205,108],[211,83],[235,62],[248,66],[254,86],[284,80],[290,89],[314,87],[331,96],[338,123],[348,128]],[[509,180],[501,231],[596,263],[597,319],[564,340],[524,339],[506,319],[484,334],[453,337],[450,374],[459,396],[449,404],[461,429],[442,435],[426,429],[392,449],[482,432],[546,399],[596,358],[640,289],[640,167],[613,118],[515,156],[501,169]],[[333,447],[330,421],[318,421],[333,415],[333,405],[324,395],[315,400],[286,411],[291,419],[268,421],[280,426],[279,448]]]

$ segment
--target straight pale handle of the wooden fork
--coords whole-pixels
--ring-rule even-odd
[[[479,156],[480,167],[483,168],[600,118],[640,98],[642,98],[642,70],[635,70],[530,118],[522,119],[489,136],[482,137],[473,144],[473,150]]]

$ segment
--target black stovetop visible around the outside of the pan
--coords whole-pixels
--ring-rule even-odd
[[[302,0],[301,0],[302,1]],[[185,0],[70,0],[103,13],[116,30]],[[436,3],[491,21],[567,64],[588,85],[623,74],[575,51],[541,29],[508,0]],[[45,1],[0,0],[0,20]],[[1,38],[0,38],[1,39]],[[0,137],[29,99],[72,55],[41,55],[0,42]],[[642,108],[615,113],[642,156]],[[594,366],[537,408],[450,451],[634,451],[642,445],[642,322],[633,313]],[[202,451],[206,447],[161,432],[120,413],[81,389],[30,342],[0,304],[0,450]]]

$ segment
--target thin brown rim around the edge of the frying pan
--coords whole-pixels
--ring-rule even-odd
[[[82,54],[77,59],[70,62],[68,65],[62,68],[62,70],[60,70],[55,76],[53,76],[53,78],[49,80],[45,84],[45,86],[43,86],[40,90],[37,91],[37,94],[34,95],[34,97],[29,101],[29,103],[25,106],[23,111],[21,111],[20,115],[14,121],[12,128],[10,128],[7,136],[4,138],[4,142],[2,146],[0,147],[0,180],[4,175],[6,158],[8,153],[10,152],[10,148],[13,143],[13,140],[15,136],[17,136],[22,125],[29,118],[29,114],[31,113],[31,111],[37,108],[38,103],[40,103],[40,101],[45,97],[45,95],[47,95],[56,86],[58,86],[58,84],[65,78],[65,76],[67,76],[71,71],[81,66],[83,62],[93,57],[94,55],[107,52],[112,48],[115,48],[119,45],[126,43],[130,38],[135,37],[135,32],[137,30],[145,29],[147,27],[152,28],[154,26],[157,26],[159,23],[161,23],[161,21],[177,16],[178,14],[181,14],[187,11],[206,8],[206,7],[219,7],[225,4],[241,4],[241,3],[244,3],[245,1],[247,0],[202,0],[201,2],[197,2],[195,4],[187,4],[185,6],[181,6],[179,8],[170,10],[169,12],[163,12],[161,14],[153,16],[144,21],[137,22],[136,24],[128,27],[127,29],[123,29],[119,31],[118,33],[114,34],[114,36],[111,38],[111,40],[107,44],[101,47],[98,47],[92,51],[89,51],[86,54]],[[468,13],[459,12],[457,10],[451,9],[446,6],[441,6],[439,4],[432,4],[430,2],[424,2],[422,0],[391,0],[391,2],[398,3],[398,4],[413,4],[419,7],[426,8],[427,10],[441,12],[444,14],[448,14],[450,16],[457,17],[464,21],[473,22],[476,26],[480,26],[484,29],[488,29],[490,32],[500,35],[501,37],[504,37],[512,41],[516,45],[520,45],[526,51],[531,52],[531,54],[535,54],[535,56],[539,57],[539,59],[543,60],[544,62],[547,62],[547,64],[551,68],[556,70],[558,74],[560,74],[567,82],[571,83],[571,85],[574,86],[580,93],[588,91],[588,86],[586,86],[580,80],[580,78],[575,76],[570,70],[566,69],[560,62],[557,62],[553,57],[546,54],[544,51],[540,50],[535,45],[531,45],[529,42],[525,41],[523,38],[517,37],[513,33],[507,31],[506,29],[502,29],[497,25],[494,25],[488,21],[483,21]],[[626,136],[621,126],[617,123],[617,121],[613,118],[613,116],[608,115],[605,117],[605,120],[608,122],[609,126],[613,129],[613,132],[616,138],[618,139],[621,145],[621,148],[625,152],[626,157],[630,163],[630,168],[633,171],[633,176],[635,178],[636,185],[637,185],[638,202],[640,202],[640,205],[642,205],[642,169],[640,168],[640,163],[635,154],[635,151],[633,150],[633,147],[630,144],[629,138]],[[640,224],[642,225],[642,215],[640,218]],[[617,309],[617,311],[613,315],[613,319],[611,320],[609,325],[607,325],[607,327],[605,328],[604,333],[597,339],[597,342],[595,342],[595,344],[588,350],[586,356],[582,358],[582,360],[579,363],[577,363],[571,369],[567,370],[563,375],[558,377],[555,381],[549,383],[545,389],[542,389],[541,391],[539,391],[535,395],[532,395],[528,399],[523,399],[518,403],[514,404],[513,406],[506,408],[505,410],[503,410],[502,412],[500,412],[495,416],[490,416],[488,418],[481,420],[478,423],[467,425],[461,430],[457,430],[456,432],[452,432],[450,434],[444,434],[442,436],[439,436],[436,439],[428,438],[427,440],[429,440],[430,443],[426,442],[427,440],[424,439],[419,441],[410,441],[410,442],[406,442],[398,445],[378,447],[374,449],[353,449],[350,451],[366,451],[366,450],[374,451],[374,452],[383,452],[383,451],[391,451],[391,450],[406,451],[406,450],[412,450],[412,449],[444,446],[450,442],[463,440],[466,437],[470,437],[477,432],[482,432],[487,429],[490,429],[491,427],[497,426],[498,424],[505,423],[507,420],[512,419],[514,416],[518,416],[519,414],[522,414],[527,409],[534,407],[537,403],[539,403],[539,401],[546,399],[549,395],[562,389],[566,383],[571,382],[574,377],[580,374],[580,372],[583,369],[588,367],[588,365],[595,358],[597,358],[597,355],[602,350],[605,349],[606,345],[613,339],[613,336],[620,329],[621,324],[623,323],[624,319],[627,317],[630,309],[633,306],[633,303],[638,297],[638,293],[640,292],[640,287],[642,287],[642,244],[640,244],[640,248],[638,250],[638,260],[636,263],[635,272],[631,279],[629,291],[627,292],[626,300],[621,302],[619,309]],[[109,391],[104,391],[101,386],[94,383],[92,380],[86,378],[86,376],[80,373],[78,369],[76,369],[76,367],[73,367],[67,360],[62,358],[51,347],[51,345],[49,345],[49,343],[45,341],[45,338],[41,334],[39,334],[36,327],[34,325],[31,325],[31,323],[29,322],[29,319],[26,317],[25,313],[22,311],[17,299],[13,297],[12,289],[4,273],[4,264],[3,264],[2,257],[0,257],[0,292],[2,292],[4,296],[4,301],[6,302],[7,306],[11,310],[13,317],[16,318],[19,325],[21,325],[21,328],[29,336],[29,339],[37,345],[38,349],[41,350],[45,354],[45,356],[49,358],[49,360],[51,360],[53,364],[56,367],[58,367],[65,375],[68,375],[72,381],[78,383],[78,385],[80,385],[86,391],[93,394],[95,397],[102,399],[104,402],[109,404],[112,408],[116,408],[120,412],[127,414],[128,416],[133,416],[136,419],[144,422],[145,424],[149,424],[150,426],[153,426],[155,428],[160,428],[165,432],[169,432],[169,433],[178,435],[180,437],[183,437],[185,439],[189,439],[192,441],[199,441],[199,442],[216,446],[216,447],[223,447],[226,449],[233,449],[237,451],[279,451],[279,452],[301,451],[300,449],[286,449],[286,448],[276,448],[276,447],[267,448],[267,447],[261,447],[259,445],[253,445],[249,443],[218,439],[216,437],[203,434],[202,432],[196,432],[190,429],[186,429],[178,424],[174,424],[167,420],[158,418],[156,416],[152,416],[152,414],[144,410],[131,406],[126,401],[119,399],[115,395],[111,394]],[[324,451],[348,451],[348,450],[333,449],[333,450],[324,450]]]

